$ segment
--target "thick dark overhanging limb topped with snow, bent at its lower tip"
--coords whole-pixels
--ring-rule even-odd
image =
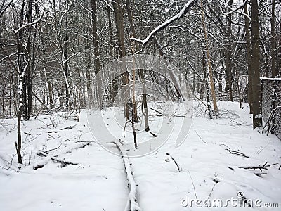
[[[132,37],[131,40],[141,42],[142,44],[145,45],[148,41],[150,41],[150,39],[152,39],[152,37],[155,34],[157,34],[157,32],[164,29],[169,24],[173,23],[175,20],[182,18],[183,15],[188,12],[188,9],[195,3],[195,1],[196,0],[189,0],[188,3],[185,4],[185,6],[181,9],[181,11],[178,14],[174,15],[174,17],[170,18],[169,20],[166,20],[164,23],[157,26],[154,30],[152,30],[152,32],[150,32],[148,37],[146,37],[145,39],[138,39],[138,38]]]

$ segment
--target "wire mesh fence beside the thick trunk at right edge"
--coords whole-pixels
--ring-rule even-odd
[[[261,78],[263,120],[281,140],[281,79]]]

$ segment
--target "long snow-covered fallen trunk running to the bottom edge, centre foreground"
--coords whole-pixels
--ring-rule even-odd
[[[125,211],[141,211],[141,207],[138,205],[137,200],[136,200],[136,182],[133,179],[133,172],[131,170],[131,164],[129,157],[126,153],[126,150],[124,149],[122,143],[120,142],[121,140],[115,140],[115,144],[117,148],[119,149],[123,162],[124,162],[124,167],[128,179],[128,186],[130,188],[130,193],[129,193],[129,198],[126,203]]]

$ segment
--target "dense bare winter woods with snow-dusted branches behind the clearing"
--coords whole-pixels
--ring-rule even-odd
[[[268,0],[3,0],[0,115],[18,115],[20,121],[41,110],[85,108],[87,91],[101,68],[117,58],[147,53],[180,68],[174,77],[190,84],[195,98],[207,101],[210,117],[219,112],[216,98],[248,102],[253,126],[259,127],[259,77],[280,77],[280,10],[280,1]],[[155,75],[138,70],[135,77]],[[128,72],[112,80],[107,100],[131,80]],[[101,106],[98,87],[94,97]],[[148,113],[147,96],[142,98]],[[129,106],[124,110],[129,120]]]

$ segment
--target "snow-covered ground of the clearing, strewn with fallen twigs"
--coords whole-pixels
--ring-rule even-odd
[[[218,119],[204,117],[204,109],[197,104],[190,133],[181,146],[175,148],[175,137],[165,134],[165,130],[157,130],[157,124],[165,122],[165,118],[159,115],[157,119],[155,113],[151,129],[158,136],[150,141],[162,136],[168,137],[167,141],[149,155],[130,158],[141,209],[217,210],[199,202],[195,205],[195,200],[209,199],[210,203],[222,200],[224,205],[232,200],[235,205],[237,192],[242,191],[245,198],[261,206],[279,203],[279,208],[258,209],[254,205],[244,210],[280,210],[280,140],[275,135],[261,134],[261,129],[252,130],[247,104],[239,109],[236,103],[220,101]],[[111,127],[116,117],[107,115],[103,121],[123,141],[132,139],[129,129],[124,138],[121,127],[119,131],[118,127]],[[96,121],[98,124],[102,123]],[[143,127],[140,124],[136,124],[137,129]],[[0,120],[0,210],[124,210],[129,188],[123,160],[112,154],[119,154],[114,144],[107,143],[105,150],[93,139],[86,111],[81,112],[80,122],[65,120],[59,113],[22,122],[24,165],[20,170],[15,155],[15,125],[15,119]],[[108,135],[103,131],[100,134],[100,137]],[[138,139],[148,138],[141,134],[138,131]],[[37,155],[39,151],[47,157]],[[78,165],[65,166],[53,162],[52,158]],[[260,173],[259,169],[240,168],[264,164],[265,167],[276,165],[266,167],[262,173],[267,174],[260,176],[254,174]],[[221,208],[233,209],[241,210],[241,207],[234,208],[229,201],[228,207]]]

